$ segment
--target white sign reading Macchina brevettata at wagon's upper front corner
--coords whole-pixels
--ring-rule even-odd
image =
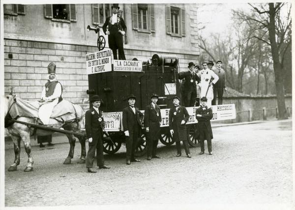
[[[110,49],[86,55],[87,74],[97,74],[108,71],[112,71],[112,51]]]

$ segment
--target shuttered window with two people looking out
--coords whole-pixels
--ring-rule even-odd
[[[52,21],[76,22],[76,4],[44,4],[44,16]]]

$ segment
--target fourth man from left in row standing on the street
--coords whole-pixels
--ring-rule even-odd
[[[169,111],[169,128],[172,139],[176,143],[177,157],[181,156],[180,142],[182,141],[187,157],[191,158],[191,154],[187,143],[186,122],[189,114],[184,106],[179,106],[180,99],[177,96],[173,98],[174,107]]]

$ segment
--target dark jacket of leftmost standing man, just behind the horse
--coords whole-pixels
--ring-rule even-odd
[[[101,121],[99,120],[101,119]],[[85,113],[85,129],[87,138],[92,138],[92,143],[98,139],[102,138],[103,135],[104,120],[102,113],[99,110],[97,113],[93,108],[89,109]]]

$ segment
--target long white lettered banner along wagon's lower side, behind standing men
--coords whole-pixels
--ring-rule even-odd
[[[196,119],[196,109],[198,108],[199,107],[186,107],[186,110],[189,114],[187,124],[198,122]],[[169,110],[170,109],[161,109],[161,127],[169,126]],[[141,110],[141,112],[145,114],[144,110]],[[210,121],[236,119],[236,106],[235,104],[214,105],[212,106],[212,114],[213,118]],[[122,112],[103,113],[103,117],[106,121],[106,131],[119,131],[122,128]]]

